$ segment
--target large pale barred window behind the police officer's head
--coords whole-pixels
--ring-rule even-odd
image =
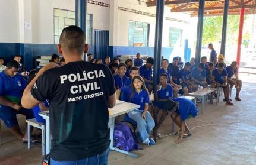
[[[86,15],[86,42],[89,45],[93,43],[93,15]],[[59,35],[62,29],[70,25],[75,25],[75,11],[64,9],[54,9],[54,43],[59,43]]]

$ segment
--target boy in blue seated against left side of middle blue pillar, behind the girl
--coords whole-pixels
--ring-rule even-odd
[[[146,88],[150,94],[153,90],[153,77],[152,77],[153,64],[154,64],[154,59],[152,57],[148,57],[147,63],[140,67],[140,76],[143,77]]]

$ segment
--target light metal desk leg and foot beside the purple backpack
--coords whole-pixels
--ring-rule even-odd
[[[110,127],[110,140],[111,140],[110,146],[109,146],[110,150],[117,151],[119,153],[126,154],[126,155],[134,157],[134,158],[138,158],[137,154],[134,154],[134,153],[131,153],[128,151],[124,151],[124,150],[120,150],[119,148],[114,147],[114,145],[113,145],[114,128],[115,128],[115,118],[114,117],[109,119],[109,127]]]

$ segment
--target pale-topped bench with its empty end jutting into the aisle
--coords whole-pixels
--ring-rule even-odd
[[[216,99],[216,105],[218,105],[218,103],[219,103],[219,90],[218,90],[218,88],[207,87],[207,88],[204,88],[204,89],[201,89],[201,90],[197,90],[196,92],[189,93],[188,95],[189,96],[194,96],[195,98],[198,98],[198,99],[201,99],[201,101],[202,101],[201,114],[203,114],[204,113],[204,100],[205,100],[205,97],[208,94],[210,94],[211,92],[215,92],[215,91],[218,92],[217,99]]]

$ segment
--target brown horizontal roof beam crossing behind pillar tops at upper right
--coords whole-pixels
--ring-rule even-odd
[[[256,4],[254,5],[237,5],[237,6],[231,6],[229,9],[240,9],[241,7],[243,8],[256,8]],[[216,9],[223,9],[223,7],[207,7],[204,8],[204,11],[210,11],[210,10],[216,10]],[[171,9],[171,12],[191,12],[191,11],[198,11],[198,8],[186,8],[186,9]]]

